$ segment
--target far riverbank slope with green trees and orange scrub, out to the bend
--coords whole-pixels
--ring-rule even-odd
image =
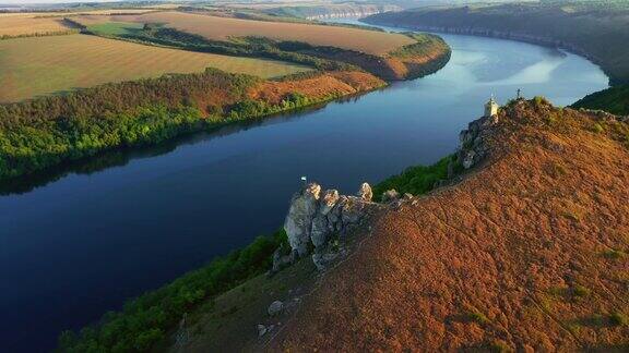
[[[384,66],[367,71],[391,80],[417,78],[438,71],[447,64],[450,48],[438,37],[424,39],[392,53],[384,65],[396,68],[391,73],[382,72]],[[323,52],[334,51],[330,50]],[[323,52],[318,51],[318,56]],[[353,62],[364,56],[334,52],[341,54],[336,61]],[[375,61],[361,64],[369,66],[369,62]],[[8,104],[0,110],[0,181],[115,148],[159,144],[181,134],[261,119],[385,85],[372,74],[347,70],[275,81],[207,70]]]

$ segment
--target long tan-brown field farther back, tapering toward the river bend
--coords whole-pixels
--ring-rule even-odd
[[[297,40],[314,46],[331,46],[370,54],[387,54],[413,39],[404,35],[347,27],[250,21],[217,17],[175,11],[141,15],[111,16],[115,22],[161,23],[182,32],[201,35],[213,40],[258,36],[277,40]]]

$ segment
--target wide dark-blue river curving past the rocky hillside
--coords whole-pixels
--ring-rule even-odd
[[[62,329],[272,232],[301,175],[353,193],[452,153],[491,94],[565,106],[607,87],[574,54],[442,37],[452,60],[428,77],[2,185],[0,351],[48,351]]]

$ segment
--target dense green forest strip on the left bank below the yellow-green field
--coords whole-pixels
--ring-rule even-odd
[[[207,69],[0,106],[0,180],[318,102],[248,98],[261,78]]]

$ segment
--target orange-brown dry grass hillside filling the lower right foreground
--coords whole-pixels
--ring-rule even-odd
[[[521,101],[461,182],[364,229],[268,348],[629,350],[629,129]]]

